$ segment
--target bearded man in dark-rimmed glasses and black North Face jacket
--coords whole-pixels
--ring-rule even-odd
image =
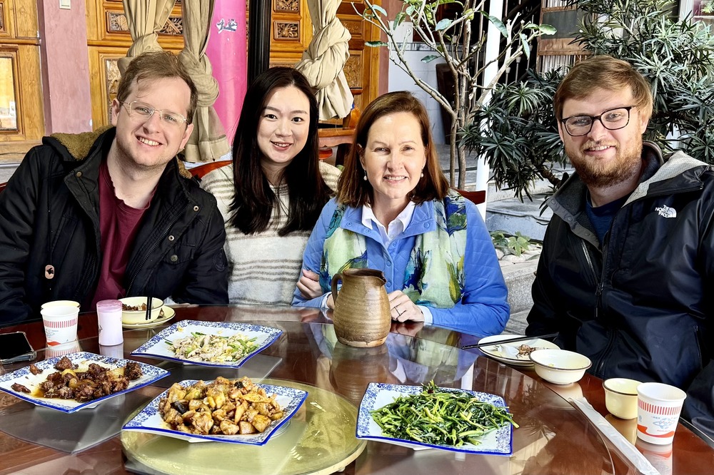
[[[555,93],[575,173],[556,191],[526,334],[588,356],[597,377],[688,390],[711,433],[714,173],[643,142],[652,93],[630,64],[594,56]],[[708,366],[709,365],[709,366]]]

